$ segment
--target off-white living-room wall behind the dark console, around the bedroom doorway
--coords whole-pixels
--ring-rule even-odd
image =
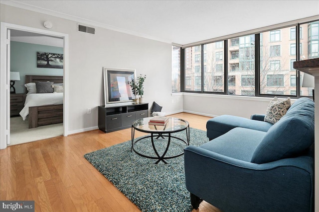
[[[156,101],[168,114],[182,110],[182,98],[171,95],[171,44],[99,27],[95,35],[77,32],[75,21],[0,6],[2,22],[46,29],[46,20],[53,24],[51,31],[69,35],[69,134],[97,127],[97,107],[104,104],[103,67],[146,74],[144,99],[149,107]]]

